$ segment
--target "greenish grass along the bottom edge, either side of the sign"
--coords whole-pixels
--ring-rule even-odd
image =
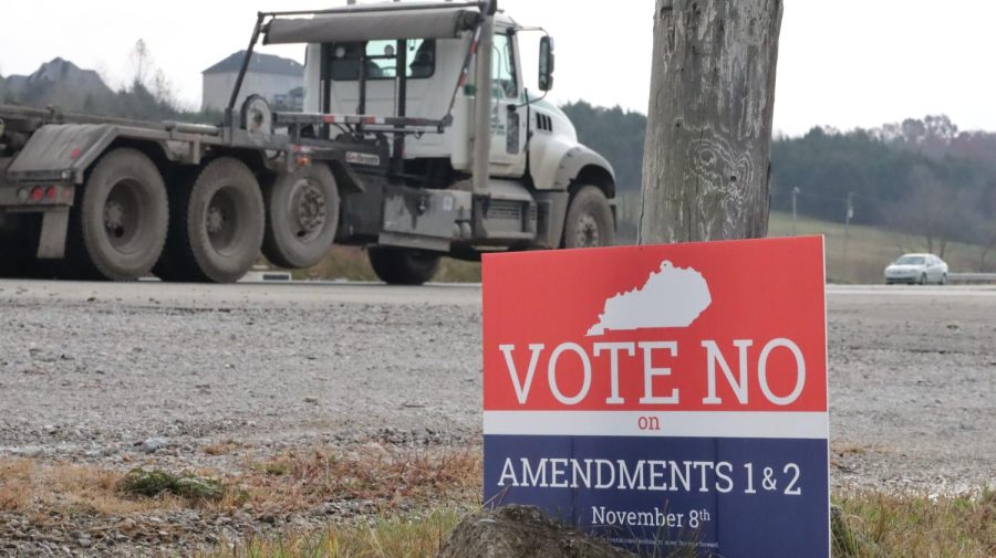
[[[855,492],[833,498],[834,558],[992,558],[996,492],[952,496]],[[222,544],[200,558],[423,558],[435,556],[470,508],[377,517],[319,533],[284,531]],[[677,550],[671,556],[684,556]],[[653,555],[651,555],[653,556]]]

